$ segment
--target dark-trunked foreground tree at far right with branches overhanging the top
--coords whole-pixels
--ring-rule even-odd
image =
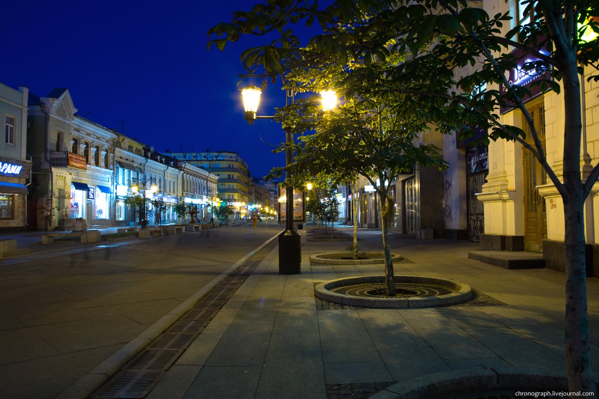
[[[229,24],[219,24],[211,33],[225,36],[210,44],[223,48],[228,40],[241,35],[279,32],[281,38],[243,54],[244,65],[252,69],[264,66],[267,72],[282,73],[293,68],[310,67],[340,59],[386,57],[391,51],[407,54],[398,68],[383,72],[391,86],[380,95],[405,95],[397,112],[410,102],[425,102],[426,117],[446,133],[468,135],[475,127],[488,129],[489,139],[516,141],[530,151],[547,173],[564,205],[565,221],[565,357],[570,391],[595,392],[589,357],[588,315],[586,312],[586,265],[583,203],[599,177],[599,167],[590,157],[581,160],[581,106],[579,73],[583,66],[597,69],[597,40],[583,40],[586,24],[599,32],[594,21],[597,2],[524,0],[523,14],[528,20],[512,23],[509,13],[492,17],[468,2],[457,0],[352,1],[337,0],[319,9],[316,2],[270,1],[257,5],[250,13],[234,13]],[[301,47],[297,36],[286,25],[305,19],[317,21],[327,31],[314,36]],[[504,26],[506,24],[506,26]],[[349,28],[346,31],[339,26]],[[389,46],[389,39],[397,39]],[[209,45],[210,45],[209,44]],[[308,48],[310,51],[305,51]],[[520,57],[510,51],[517,48],[534,60],[518,65]],[[532,59],[532,58],[531,58]],[[464,73],[464,68],[471,68]],[[525,74],[547,74],[536,85],[541,92],[554,90],[564,96],[564,148],[559,174],[549,165],[523,98],[530,89],[510,86],[506,72],[517,68]],[[371,71],[359,71],[347,80],[358,81]],[[589,77],[598,80],[597,74]],[[558,83],[559,82],[559,83]],[[474,93],[476,86],[487,90]],[[506,90],[498,90],[503,85]],[[495,113],[500,105],[515,106],[525,117],[534,144],[525,140],[519,127],[504,124]]]

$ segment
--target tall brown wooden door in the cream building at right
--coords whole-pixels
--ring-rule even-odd
[[[536,102],[530,107],[528,113],[534,121],[534,126],[539,133],[543,148],[545,145],[545,121],[543,102]],[[523,117],[524,118],[524,117]],[[534,146],[530,127],[524,121],[527,133],[527,142]],[[547,175],[540,166],[539,161],[526,148],[522,150],[522,170],[524,172],[524,248],[527,251],[543,252],[543,239],[547,238],[547,212],[545,200],[539,194],[539,185],[546,184]]]

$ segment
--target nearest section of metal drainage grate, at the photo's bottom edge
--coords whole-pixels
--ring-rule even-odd
[[[145,398],[165,371],[120,371],[92,398]]]

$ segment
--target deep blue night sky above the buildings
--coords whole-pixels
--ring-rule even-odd
[[[78,114],[95,123],[158,151],[235,151],[262,177],[285,159],[259,135],[279,144],[284,133],[270,120],[243,120],[237,83],[241,51],[265,39],[206,49],[211,26],[257,2],[7,1],[0,82],[38,96],[67,87]],[[269,86],[259,114],[283,105],[280,86]]]

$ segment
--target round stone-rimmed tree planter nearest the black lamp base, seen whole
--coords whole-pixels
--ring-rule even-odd
[[[361,307],[432,307],[456,304],[472,297],[467,284],[416,277],[395,276],[397,296],[385,296],[385,276],[360,276],[322,282],[314,296],[322,300]]]

